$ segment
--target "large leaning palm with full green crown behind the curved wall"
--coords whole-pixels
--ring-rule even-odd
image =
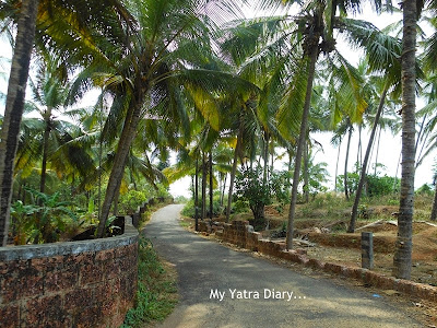
[[[131,0],[125,1],[125,4],[127,14],[123,21],[119,22],[119,16],[114,14],[108,20],[110,28],[103,31],[113,43],[87,34],[86,45],[78,45],[74,40],[64,45],[66,56],[70,56],[71,61],[83,60],[78,58],[83,57],[80,56],[83,52],[92,59],[76,80],[76,94],[80,95],[92,83],[103,85],[114,96],[110,116],[122,127],[102,206],[98,235],[105,232],[109,209],[141,117],[149,113],[163,119],[172,117],[174,124],[186,124],[188,119],[184,118],[186,114],[178,84],[184,84],[184,81],[217,82],[200,70],[187,72],[182,61],[185,58],[197,67],[194,60],[200,44],[210,44],[209,27],[204,21],[212,23],[205,13],[212,10],[214,2]],[[218,15],[220,9],[215,13]],[[83,37],[83,31],[70,30],[70,33]],[[61,39],[54,37],[52,42],[60,43]]]

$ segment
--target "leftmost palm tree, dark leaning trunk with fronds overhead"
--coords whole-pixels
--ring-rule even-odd
[[[123,13],[122,7],[117,0],[109,0],[105,3],[95,1],[91,5],[90,1],[75,0],[70,1],[68,4],[66,5],[64,1],[56,0],[8,0],[0,3],[1,32],[8,31],[4,27],[9,27],[11,24],[17,26],[5,114],[2,122],[2,142],[0,142],[0,184],[2,186],[0,195],[0,241],[2,244],[5,243],[8,236],[13,163],[24,108],[31,52],[34,46],[35,24],[39,25],[42,21],[47,21],[48,15],[52,16],[55,12],[58,14],[61,11],[70,13],[69,19],[62,22],[63,26],[75,24],[76,27],[83,27],[84,24],[86,25],[91,21],[95,23],[95,17],[105,16],[103,13],[107,12],[108,8],[116,8],[121,15]],[[55,7],[57,7],[57,10],[54,10]],[[105,19],[101,20],[101,22],[105,22]],[[52,25],[52,28],[58,35],[68,31],[68,28],[59,28],[59,25]],[[46,32],[45,27],[37,28],[37,34],[43,38],[46,36]]]

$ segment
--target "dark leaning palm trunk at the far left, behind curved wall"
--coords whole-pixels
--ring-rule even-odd
[[[15,49],[0,134],[0,246],[8,242],[9,219],[12,199],[12,181],[20,124],[23,116],[24,98],[35,37],[35,22],[38,0],[23,1],[17,23]]]

